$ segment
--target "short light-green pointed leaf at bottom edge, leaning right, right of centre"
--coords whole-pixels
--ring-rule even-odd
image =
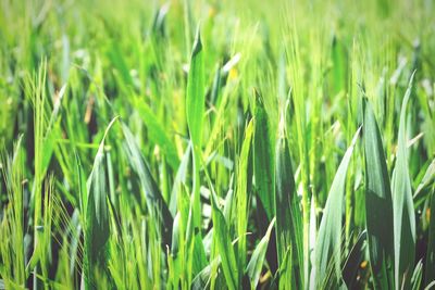
[[[269,239],[271,238],[272,228],[275,224],[275,218],[272,219],[269,225],[268,231],[261,241],[257,244],[256,250],[252,252],[251,260],[246,267],[246,273],[248,273],[251,279],[251,288],[257,288],[258,281],[260,279],[261,269],[263,268],[265,252],[268,251]]]

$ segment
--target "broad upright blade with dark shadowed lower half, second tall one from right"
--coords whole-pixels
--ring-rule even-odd
[[[393,200],[381,133],[364,99],[365,223],[375,289],[394,289]]]

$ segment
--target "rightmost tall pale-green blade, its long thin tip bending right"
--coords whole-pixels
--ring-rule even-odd
[[[411,181],[408,171],[408,149],[406,137],[407,104],[411,94],[414,74],[411,75],[400,111],[398,152],[393,173],[393,211],[395,244],[396,289],[410,287],[411,272],[415,256],[415,216]]]

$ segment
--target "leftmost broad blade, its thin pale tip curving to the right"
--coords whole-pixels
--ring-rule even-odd
[[[107,242],[110,236],[109,210],[107,201],[107,176],[104,169],[104,140],[117,117],[113,118],[104,131],[92,171],[87,180],[85,216],[85,288],[96,289],[97,270],[107,269]]]

